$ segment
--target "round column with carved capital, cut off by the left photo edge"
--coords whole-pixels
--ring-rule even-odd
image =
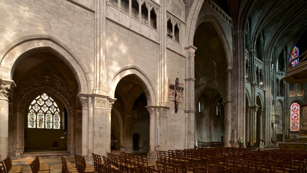
[[[9,94],[14,81],[0,79],[0,159],[8,155],[9,143]]]

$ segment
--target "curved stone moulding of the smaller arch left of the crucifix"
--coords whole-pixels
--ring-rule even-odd
[[[153,82],[150,80],[150,78],[145,74],[144,71],[142,71],[137,66],[127,66],[116,73],[113,74],[112,79],[110,80],[110,86],[108,88],[109,95],[114,98],[115,94],[115,88],[123,77],[129,75],[129,74],[135,74],[141,79],[141,86],[143,87],[143,90],[145,91],[146,99],[147,99],[147,105],[157,105],[157,92],[155,90],[155,87],[153,85]]]

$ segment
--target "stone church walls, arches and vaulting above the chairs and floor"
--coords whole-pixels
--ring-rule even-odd
[[[305,0],[2,1],[0,159],[307,143],[306,16]]]

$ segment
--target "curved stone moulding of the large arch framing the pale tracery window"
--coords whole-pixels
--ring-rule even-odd
[[[67,46],[50,35],[28,35],[10,42],[0,52],[0,78],[12,79],[16,59],[24,52],[34,48],[42,48],[41,51],[47,50],[55,54],[74,73],[80,92],[90,92],[90,80],[86,68]]]

